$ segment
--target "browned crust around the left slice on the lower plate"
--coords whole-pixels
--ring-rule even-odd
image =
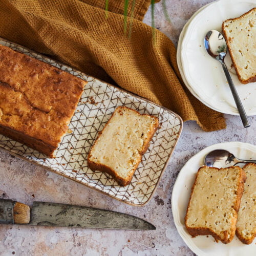
[[[225,230],[225,231],[222,232],[224,234],[224,239],[222,239],[220,236],[218,236],[218,234],[216,232],[214,232],[214,230],[212,230],[210,228],[204,228],[204,227],[191,228],[191,227],[187,226],[188,209],[189,209],[191,197],[193,195],[193,191],[194,191],[195,185],[197,183],[199,171],[200,171],[201,168],[204,168],[204,167],[205,166],[202,166],[202,167],[200,167],[198,169],[195,182],[193,184],[193,187],[191,188],[191,194],[190,194],[190,197],[189,197],[189,203],[188,203],[188,206],[187,206],[186,216],[185,216],[185,226],[186,226],[186,229],[187,229],[188,233],[192,237],[197,237],[197,236],[208,235],[209,234],[212,237],[214,237],[216,241],[220,240],[222,243],[227,244],[227,243],[230,243],[232,241],[232,239],[234,237],[234,234],[236,232],[237,216],[232,219],[232,223],[231,223],[231,226],[232,226],[232,230],[231,230],[232,236],[228,237],[228,232]],[[230,167],[227,167],[227,168],[232,168],[232,167],[233,166],[230,166]],[[216,167],[209,167],[209,168],[219,170],[219,168],[216,168]],[[237,200],[236,200],[236,202],[233,205],[233,209],[236,211],[236,213],[238,212],[239,207],[240,207],[241,199],[242,199],[243,192],[244,192],[244,183],[245,183],[245,181],[246,181],[246,175],[245,175],[244,170],[242,170],[242,172],[240,173],[240,178],[238,180],[238,184],[237,184]]]

